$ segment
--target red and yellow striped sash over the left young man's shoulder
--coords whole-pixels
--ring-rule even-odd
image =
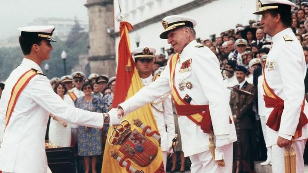
[[[10,122],[12,112],[14,111],[14,107],[16,105],[16,102],[17,102],[17,99],[18,99],[20,93],[26,87],[26,85],[29,83],[29,81],[37,74],[38,74],[38,72],[33,70],[33,69],[28,70],[19,77],[19,79],[17,80],[17,82],[13,86],[12,91],[11,91],[11,97],[10,97],[9,103],[7,104],[7,108],[6,108],[6,114],[5,114],[6,123],[5,123],[4,130],[6,129],[7,125]]]

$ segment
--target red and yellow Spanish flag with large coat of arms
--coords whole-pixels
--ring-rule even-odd
[[[128,31],[132,29],[130,23],[120,22],[114,108],[143,87],[130,52]],[[120,125],[109,127],[102,173],[110,172],[164,172],[160,134],[150,104],[126,115]]]

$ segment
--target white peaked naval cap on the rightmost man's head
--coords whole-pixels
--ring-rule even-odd
[[[288,0],[259,0],[259,10],[253,14],[262,14],[265,11],[275,9],[284,9],[290,11],[293,7],[295,7],[295,4]]]

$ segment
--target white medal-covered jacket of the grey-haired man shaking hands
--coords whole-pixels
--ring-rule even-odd
[[[191,82],[193,85],[191,89],[184,88],[183,91],[178,89],[180,97],[184,99],[187,94],[192,98],[190,104],[209,105],[216,138],[228,139],[229,143],[233,143],[237,137],[234,123],[229,124],[229,117],[232,119],[229,103],[226,99],[221,99],[226,96],[218,59],[208,47],[195,47],[196,45],[196,40],[193,40],[180,54],[180,62],[175,70],[175,86],[178,89],[182,80]],[[190,58],[192,58],[191,70],[180,73],[181,63]],[[155,82],[143,87],[133,97],[120,104],[125,114],[171,91],[169,63],[170,61]],[[185,156],[209,150],[209,135],[203,133],[200,126],[186,116],[180,116],[178,121]]]

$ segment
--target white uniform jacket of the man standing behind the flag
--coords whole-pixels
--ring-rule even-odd
[[[150,75],[148,78],[145,79],[141,78],[141,81],[144,86],[148,86],[150,83],[152,83],[153,76]],[[160,99],[155,100],[151,106],[160,133],[160,147],[162,151],[169,150],[169,148],[172,146],[172,139],[175,135],[171,95],[169,93],[167,95],[168,97],[166,99],[164,99],[164,96],[162,96]],[[161,101],[162,99],[164,100]]]

